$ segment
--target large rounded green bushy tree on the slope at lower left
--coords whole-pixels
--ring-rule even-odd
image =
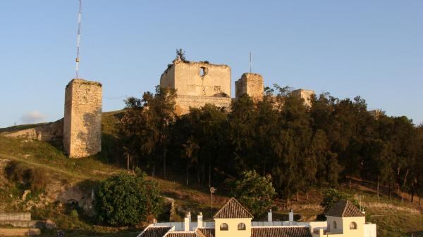
[[[111,226],[135,225],[149,214],[159,214],[163,200],[157,183],[145,179],[137,169],[133,174],[118,174],[102,181],[95,191],[99,220]]]

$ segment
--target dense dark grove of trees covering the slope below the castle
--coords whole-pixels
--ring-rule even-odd
[[[407,117],[373,116],[364,99],[330,94],[312,107],[288,87],[265,88],[262,101],[247,96],[227,112],[213,105],[175,113],[175,91],[128,98],[121,139],[130,165],[167,177],[172,169],[186,184],[223,184],[255,170],[270,177],[280,198],[310,188],[336,186],[352,177],[393,191],[423,194],[423,127]]]

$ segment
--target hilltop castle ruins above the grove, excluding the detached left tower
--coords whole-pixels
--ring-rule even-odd
[[[264,79],[256,73],[244,73],[235,81],[235,98],[231,96],[231,68],[207,61],[188,62],[176,58],[160,77],[160,87],[176,90],[176,113],[189,113],[190,108],[201,108],[209,103],[217,107],[231,108],[233,99],[243,94],[253,101],[259,101],[264,94]],[[314,91],[298,89],[293,95],[299,96],[307,106]]]

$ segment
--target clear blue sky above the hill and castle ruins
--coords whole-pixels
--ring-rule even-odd
[[[75,77],[78,0],[0,0],[0,127],[63,117]],[[85,0],[80,77],[103,84],[103,110],[188,60],[249,70],[266,85],[360,95],[423,122],[423,1]],[[234,96],[234,94],[233,94]]]

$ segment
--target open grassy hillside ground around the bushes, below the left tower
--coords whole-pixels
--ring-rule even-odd
[[[48,179],[51,184],[44,193],[51,193],[50,189],[73,185],[90,187],[96,181],[106,179],[111,174],[126,172],[121,167],[123,164],[111,163],[111,158],[116,155],[116,122],[120,115],[119,111],[103,114],[103,150],[102,153],[90,158],[69,159],[63,153],[60,143],[0,136],[0,168],[4,169],[6,163],[15,161],[25,167],[42,170],[45,179]],[[13,129],[18,128],[13,127]],[[5,130],[7,129],[2,129],[2,131]],[[51,198],[49,199],[49,194],[44,195],[43,192],[32,193],[27,200],[22,201],[20,199],[23,190],[6,179],[3,172],[3,170],[0,171],[0,211],[30,210],[34,219],[53,219],[58,229],[66,230],[66,236],[136,236],[136,233],[140,232],[140,229],[135,228],[117,229],[97,226],[97,220],[86,217],[82,213],[78,219],[75,219],[70,214],[73,207],[54,202]],[[164,196],[174,199],[176,215],[172,217],[173,219],[181,220],[188,210],[194,216],[201,211],[204,219],[211,219],[212,214],[228,198],[218,189],[216,193],[218,195],[214,198],[214,210],[211,210],[207,187],[185,186],[183,177],[177,174],[170,174],[169,177],[172,177],[172,181],[157,177],[148,177],[148,179],[157,180]],[[398,196],[390,200],[386,194],[382,194],[381,198],[377,199],[374,188],[372,183],[354,180],[351,189],[347,184],[341,185],[338,189],[357,198],[361,196],[366,207],[367,222],[378,225],[378,236],[410,236],[412,232],[418,236],[417,232],[423,231],[423,215],[419,211],[418,203],[410,203],[408,199],[402,203]],[[321,194],[318,190],[311,191],[308,200],[300,194],[299,200],[291,200],[289,206],[281,200],[276,200],[275,205],[278,210],[274,211],[274,219],[286,219],[287,209],[292,207],[301,221],[312,221],[322,212],[319,206],[320,201]],[[164,217],[161,217],[162,221],[166,221]],[[55,236],[55,232],[43,231],[43,236]]]

